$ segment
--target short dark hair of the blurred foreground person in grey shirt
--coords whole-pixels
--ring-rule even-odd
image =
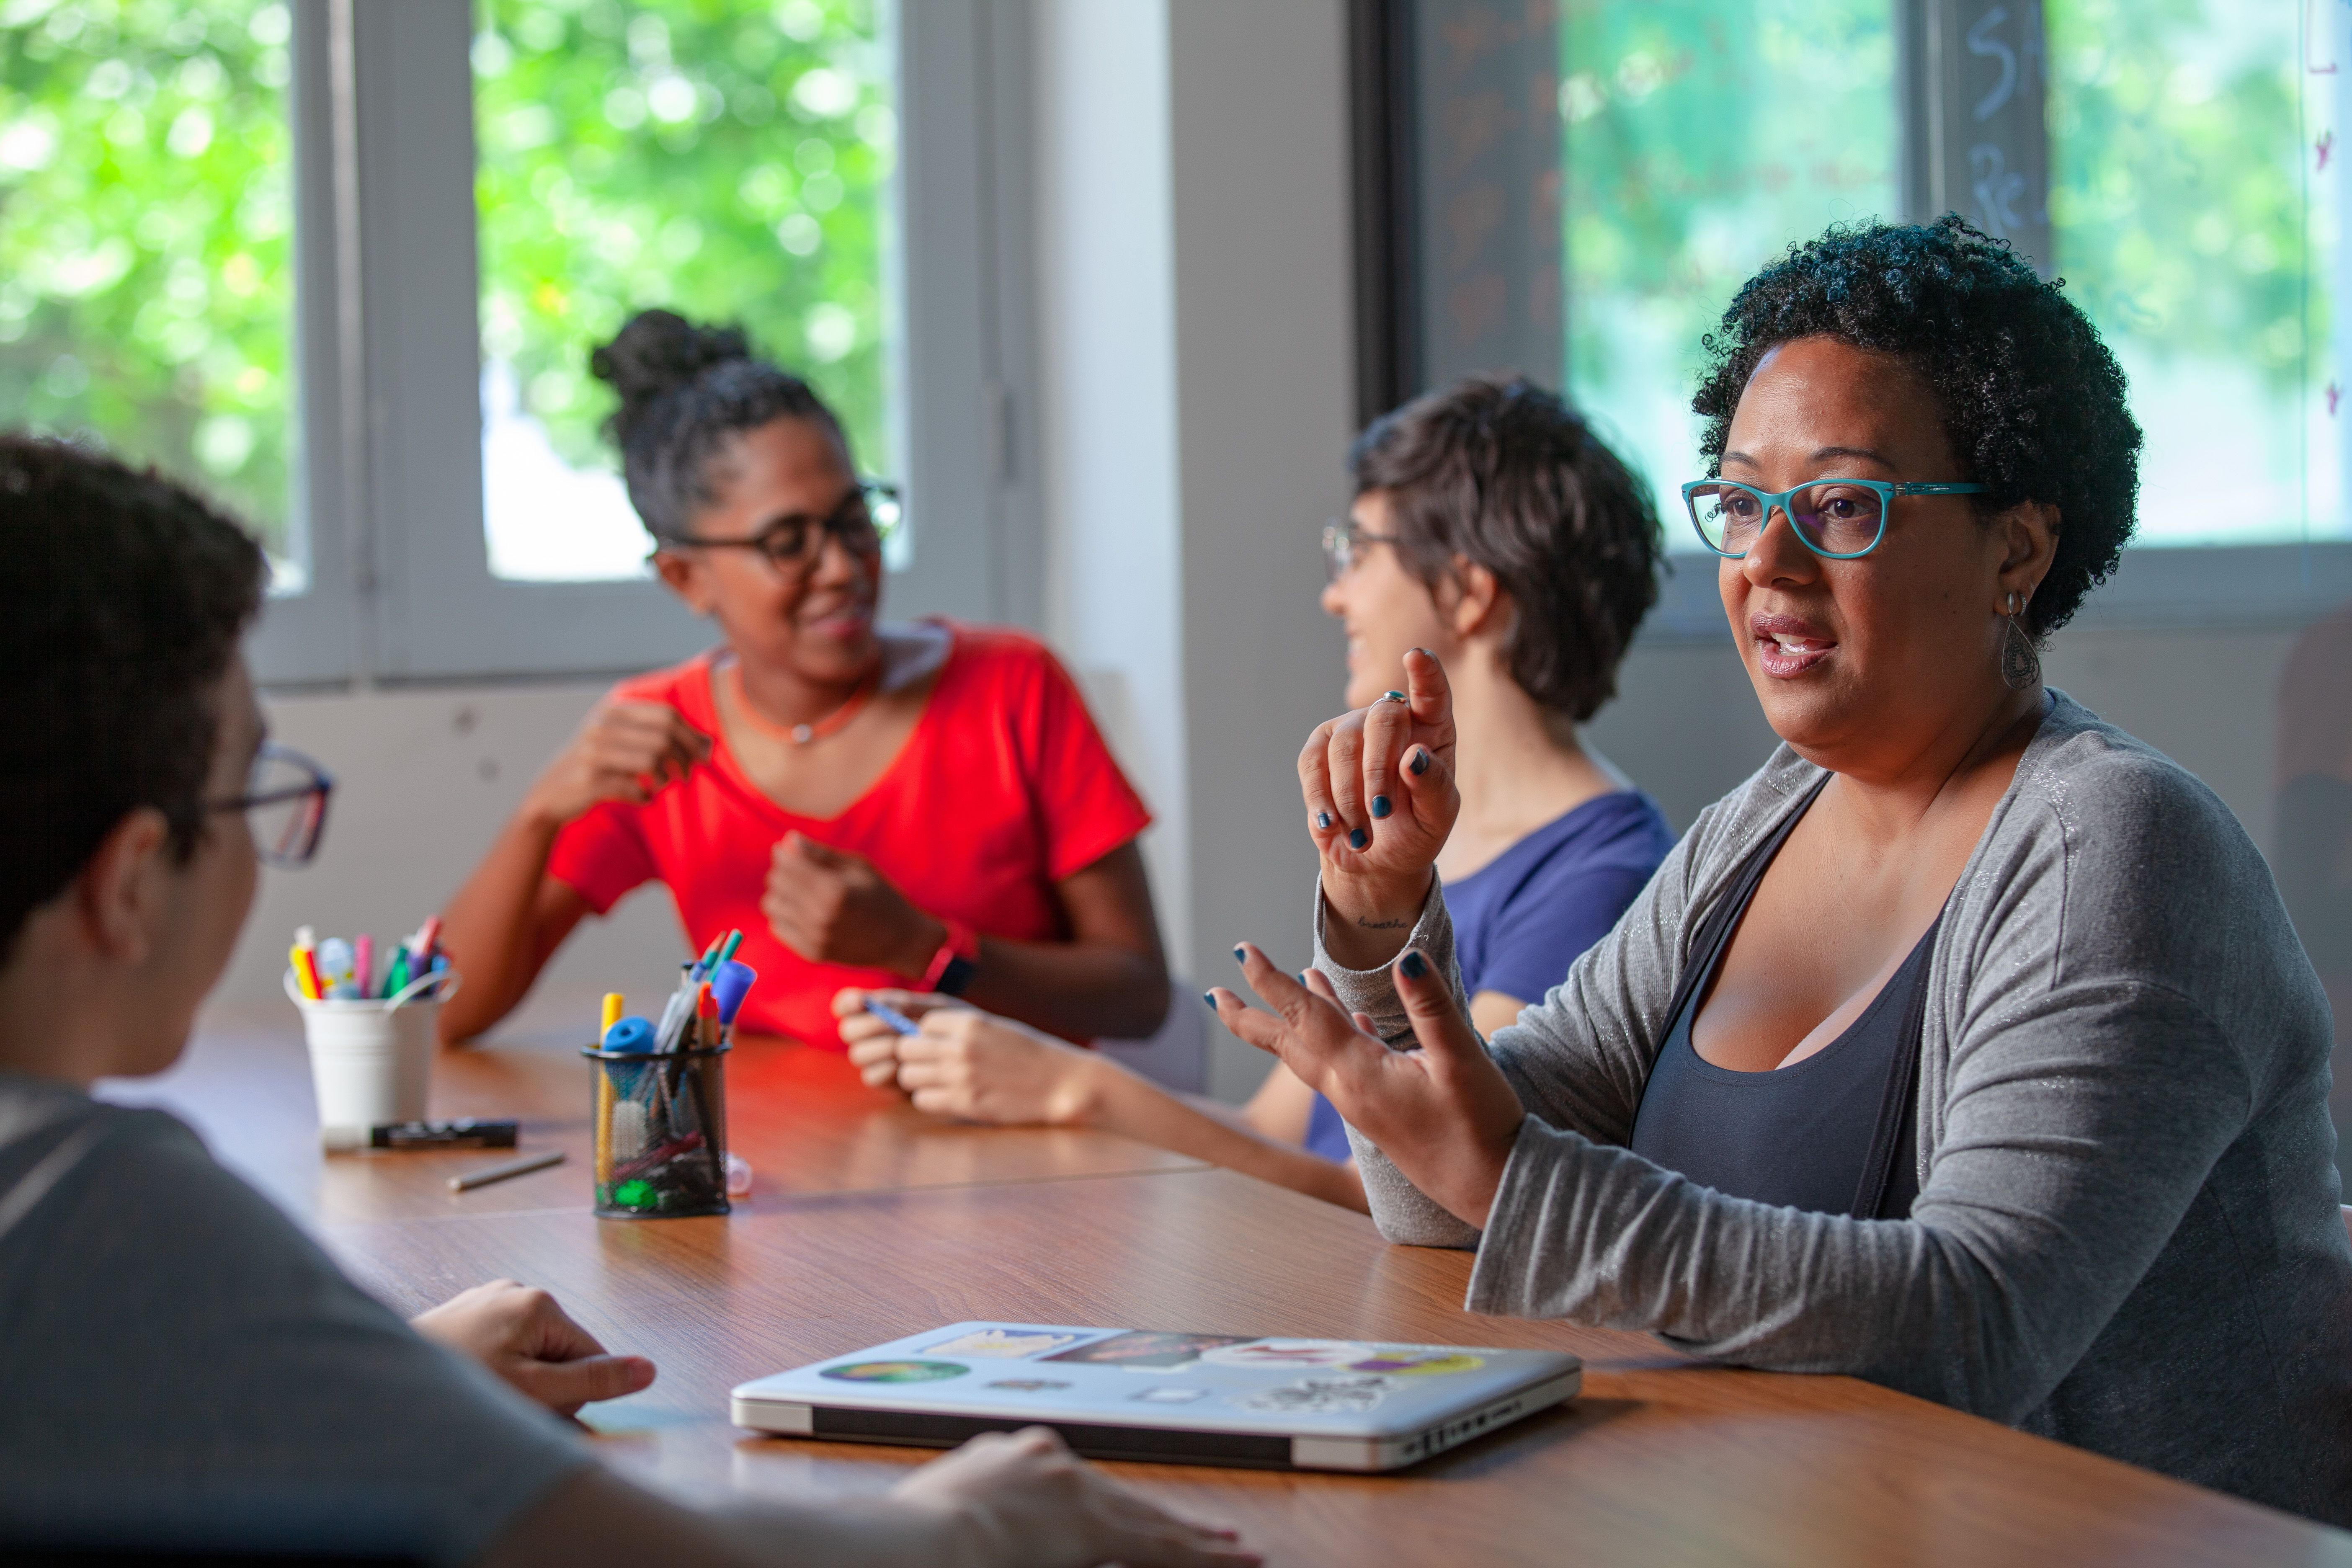
[[[0,959],[139,806],[205,837],[214,696],[266,562],[179,484],[0,435]]]

